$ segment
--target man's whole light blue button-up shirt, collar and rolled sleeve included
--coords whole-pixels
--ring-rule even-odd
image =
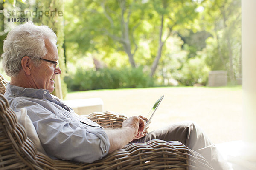
[[[48,156],[91,163],[108,154],[104,128],[76,114],[48,90],[7,84],[4,96],[15,112],[27,108]]]

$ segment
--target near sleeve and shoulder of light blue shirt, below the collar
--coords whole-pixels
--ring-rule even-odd
[[[103,128],[74,120],[74,117],[63,114],[64,110],[54,114],[52,111],[55,110],[47,106],[47,102],[38,104],[20,99],[12,103],[16,103],[13,106],[15,111],[27,108],[41,144],[50,157],[92,163],[108,154],[110,143]],[[66,117],[63,119],[59,115]]]

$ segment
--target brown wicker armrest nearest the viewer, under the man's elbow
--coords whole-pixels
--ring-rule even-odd
[[[213,170],[198,153],[177,141],[151,140],[133,143],[92,164],[54,161],[59,170]]]

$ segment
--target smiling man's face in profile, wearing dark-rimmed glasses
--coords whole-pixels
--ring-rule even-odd
[[[58,61],[58,49],[50,40],[45,39],[47,54],[42,59]],[[55,64],[41,60],[41,64],[34,68],[32,79],[36,88],[47,89],[51,93],[54,90],[54,79],[57,74],[61,74],[61,69],[55,68]]]

